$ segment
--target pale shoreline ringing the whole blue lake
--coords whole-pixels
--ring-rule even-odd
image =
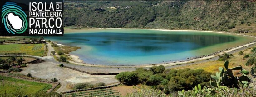
[[[122,28],[94,28],[94,29],[122,29]],[[124,29],[126,29],[126,28],[124,28]],[[131,29],[134,29],[134,28],[131,28]],[[137,29],[137,28],[135,28],[135,29]],[[86,30],[86,29],[68,29],[68,30],[69,31],[71,31],[71,30],[73,31],[73,30]],[[148,30],[159,30],[159,31],[198,31],[198,30],[170,30],[170,29],[148,29]],[[200,30],[198,32],[226,33],[226,32],[200,31]],[[70,32],[70,33],[72,33],[72,32]],[[242,34],[237,34],[237,33],[226,33],[226,34],[242,35]],[[253,37],[253,36],[249,36],[249,35],[242,35],[242,36]],[[159,63],[159,64],[137,64],[137,65],[87,64],[87,63],[81,61],[81,59],[79,59],[79,56],[76,56],[76,55],[74,55],[74,56],[76,56],[76,58],[75,58],[75,60],[72,63],[79,64],[79,65],[90,65],[90,66],[92,66],[92,65],[94,65],[94,66],[142,66],[142,67],[156,66],[156,65],[170,66],[170,65],[190,63],[190,62],[198,61],[198,60],[207,60],[207,59],[210,59],[212,57],[216,57],[216,56],[222,55],[222,52],[228,53],[230,50],[234,51],[234,49],[237,50],[237,49],[239,49],[241,47],[253,45],[255,43],[256,43],[256,40],[254,40],[253,42],[249,42],[249,43],[246,43],[246,44],[243,44],[243,45],[236,46],[236,47],[231,47],[231,48],[228,48],[228,49],[217,51],[217,52],[214,52],[214,53],[211,53],[211,54],[208,54],[208,55],[194,56],[194,57],[186,58],[185,60],[177,60],[177,61],[172,61],[172,62],[169,61],[169,62],[166,62],[166,63]],[[77,60],[79,60],[79,61],[77,61]]]

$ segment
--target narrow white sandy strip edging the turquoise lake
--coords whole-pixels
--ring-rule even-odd
[[[95,29],[122,29],[122,28],[95,28]],[[124,29],[137,29],[137,28],[124,28]],[[86,29],[69,29],[69,30],[86,30]],[[188,31],[188,32],[193,32],[193,31],[197,31],[197,32],[214,32],[214,33],[225,33],[225,34],[235,34],[235,35],[242,35],[242,34],[236,34],[236,33],[226,33],[226,32],[216,32],[216,31],[200,31],[200,30],[170,30],[170,29],[148,29],[148,30],[159,30],[159,31]],[[254,36],[249,36],[249,35],[242,35],[242,36],[248,36],[248,37],[254,37]],[[254,37],[256,38],[256,37]],[[164,65],[164,66],[172,66],[172,65],[177,65],[177,64],[186,64],[186,63],[191,63],[191,62],[196,62],[196,61],[200,61],[200,60],[206,60],[206,59],[210,59],[210,58],[214,58],[216,56],[219,55],[223,55],[225,53],[234,51],[234,50],[238,50],[240,48],[246,47],[246,46],[250,46],[255,44],[256,42],[252,42],[252,43],[248,43],[242,46],[238,46],[235,48],[232,48],[230,50],[227,51],[223,51],[220,52],[219,54],[216,55],[210,55],[207,57],[202,57],[202,58],[198,58],[198,59],[194,59],[194,60],[186,60],[186,61],[177,61],[175,63],[166,63],[166,64],[152,64],[152,65],[134,65],[134,66],[138,66],[138,67],[151,67],[151,66],[159,66],[159,65]],[[74,60],[73,64],[77,64],[77,65],[85,65],[85,66],[96,66],[96,67],[105,67],[105,66],[111,66],[111,65],[92,65],[92,64],[86,64],[86,63],[82,63],[83,61],[81,59],[79,59],[79,56],[76,55],[70,55],[70,57],[72,58],[72,60]],[[120,65],[122,66],[122,65]]]

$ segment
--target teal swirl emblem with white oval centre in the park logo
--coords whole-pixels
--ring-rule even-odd
[[[9,33],[21,34],[27,30],[27,15],[16,3],[6,2],[3,5],[1,17]]]

